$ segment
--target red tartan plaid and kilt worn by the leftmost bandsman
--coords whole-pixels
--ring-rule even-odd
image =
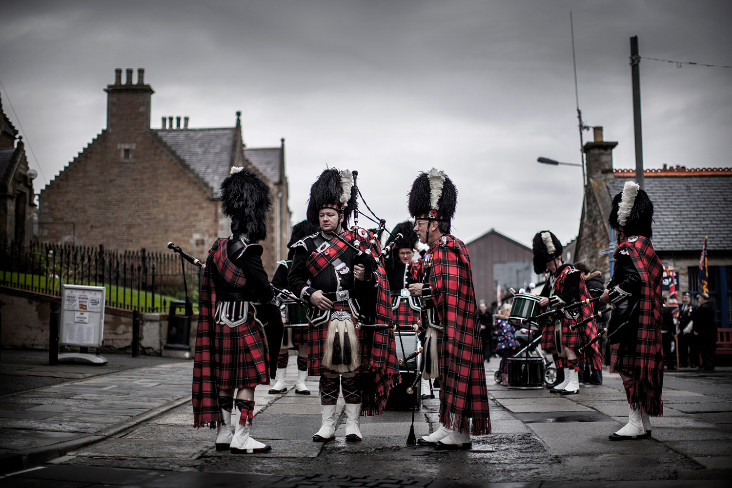
[[[201,291],[198,294],[198,328],[195,334],[195,356],[193,363],[193,426],[203,427],[207,425],[212,429],[217,427],[218,422],[223,421],[221,409],[219,407],[219,379],[221,372],[224,370],[223,364],[218,361],[229,361],[227,364],[231,367],[244,367],[250,364],[240,356],[226,351],[224,348],[231,349],[236,347],[234,338],[228,336],[228,339],[220,340],[217,337],[217,328],[214,326],[214,304],[216,303],[216,290],[214,288],[214,280],[212,270],[215,268],[223,279],[231,283],[237,288],[243,287],[247,280],[244,277],[244,271],[231,263],[227,255],[227,246],[222,245],[228,239],[217,239],[209,250],[209,258],[206,260],[206,270],[201,280]],[[261,367],[261,374],[266,378],[266,367],[264,366],[264,354],[261,345],[258,343],[256,334],[249,326],[249,321],[242,324],[236,329],[241,329],[237,334],[241,335],[241,340],[248,346],[248,351],[252,358],[252,364],[256,368]],[[228,327],[227,327],[228,329]],[[242,331],[248,331],[243,332]],[[238,342],[239,336],[236,337]],[[218,342],[217,342],[218,341]],[[262,339],[264,342],[264,339]],[[222,348],[218,350],[218,348]],[[218,356],[217,356],[218,355]],[[231,356],[231,357],[230,357]],[[218,358],[218,359],[217,359]],[[241,361],[241,362],[239,362]],[[230,380],[238,376],[242,380],[250,378],[252,373],[243,371],[232,371],[225,373]],[[255,373],[257,374],[257,373]],[[266,384],[266,383],[265,383]]]

